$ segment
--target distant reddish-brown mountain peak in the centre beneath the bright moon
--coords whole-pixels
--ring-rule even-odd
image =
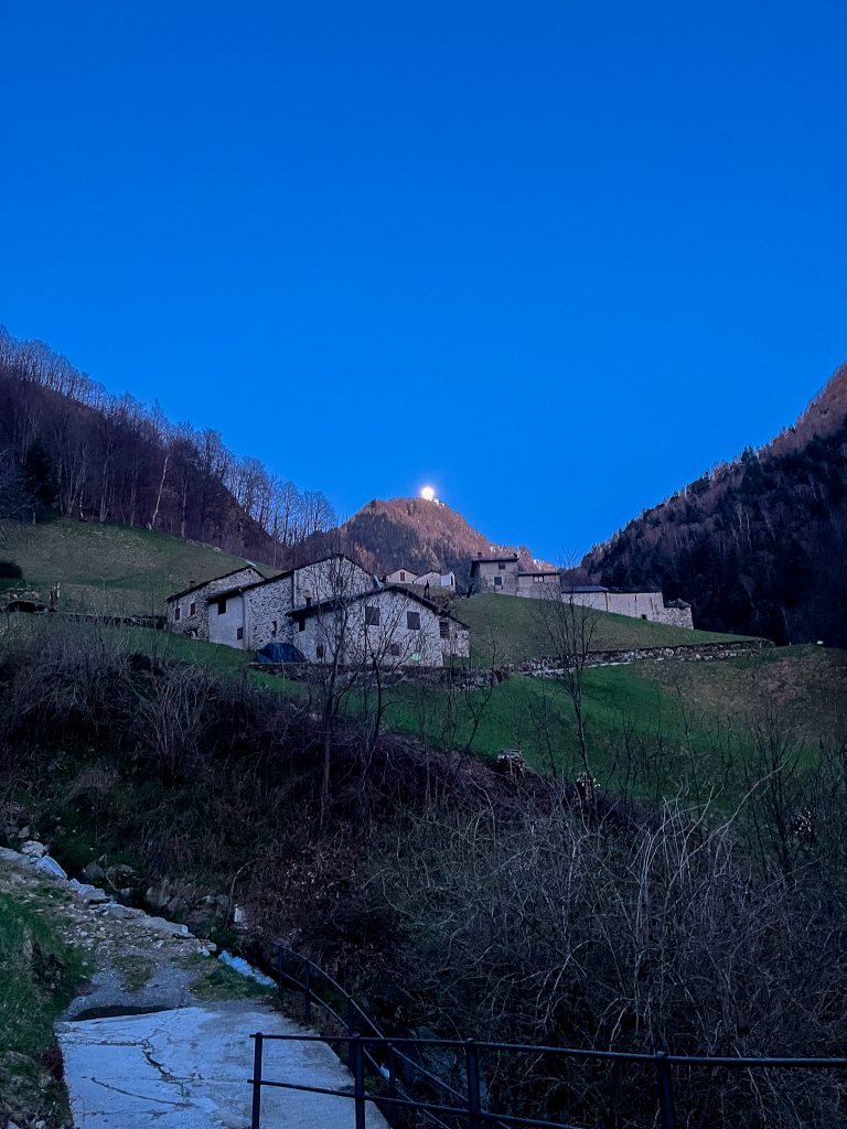
[[[449,506],[422,498],[375,498],[337,530],[306,539],[295,550],[295,559],[323,555],[337,548],[374,572],[402,567],[418,574],[453,570],[460,584],[466,583],[470,560],[480,553],[515,552],[524,567],[533,567],[529,549],[495,544]]]

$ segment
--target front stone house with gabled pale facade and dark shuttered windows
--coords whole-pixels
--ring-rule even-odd
[[[439,667],[470,650],[465,623],[402,585],[311,604],[288,618],[291,640],[311,663]]]

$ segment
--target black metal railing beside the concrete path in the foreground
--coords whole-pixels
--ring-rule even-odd
[[[543,1047],[526,1043],[477,1042],[472,1039],[407,1039],[385,1035],[356,1000],[326,972],[312,961],[294,953],[287,946],[279,946],[277,974],[281,989],[286,984],[303,994],[304,1015],[311,1023],[315,1007],[325,1012],[340,1030],[315,1035],[274,1035],[257,1032],[253,1054],[253,1105],[251,1129],[262,1129],[263,1088],[294,1089],[306,1093],[344,1097],[353,1103],[356,1129],[367,1129],[368,1105],[382,1113],[414,1114],[418,1122],[434,1124],[439,1129],[578,1129],[570,1121],[550,1121],[518,1113],[496,1112],[486,1108],[483,1101],[482,1070],[480,1057],[497,1056],[498,1061],[521,1057],[538,1064],[542,1059],[561,1064],[597,1064],[611,1067],[613,1073],[623,1068],[647,1071],[652,1099],[644,1104],[653,1106],[647,1123],[662,1129],[676,1129],[678,1120],[674,1102],[674,1077],[678,1071],[710,1071],[716,1084],[716,1071],[721,1070],[829,1070],[847,1071],[847,1058],[741,1058],[716,1056],[671,1054],[637,1051],[600,1051],[567,1047]],[[323,998],[330,995],[332,1000]],[[339,1010],[343,1009],[343,1014]],[[307,1086],[300,1083],[269,1078],[264,1074],[264,1047],[269,1041],[320,1042],[338,1044],[347,1049],[347,1062],[352,1075],[350,1088],[330,1089]],[[424,1060],[427,1053],[452,1052],[461,1062],[461,1080],[451,1085],[427,1069]],[[647,1079],[645,1079],[647,1082]],[[647,1087],[644,1087],[646,1091]],[[618,1123],[615,1119],[615,1123]],[[621,1122],[622,1123],[622,1122]],[[632,1123],[632,1122],[629,1122]],[[681,1119],[680,1123],[684,1123]],[[267,1126],[265,1129],[274,1129]]]

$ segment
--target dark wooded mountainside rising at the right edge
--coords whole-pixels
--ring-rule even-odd
[[[695,624],[847,646],[847,366],[796,423],[645,510],[583,561],[661,585]]]

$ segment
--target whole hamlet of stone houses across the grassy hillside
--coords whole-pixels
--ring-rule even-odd
[[[517,554],[478,555],[471,592],[561,598],[561,572],[524,570]],[[333,553],[265,577],[254,564],[167,599],[168,630],[194,639],[261,651],[276,645],[280,660],[346,666],[444,666],[470,654],[470,629],[453,614],[453,572],[417,575],[398,568],[376,577],[344,553]],[[600,585],[569,587],[567,598],[599,611],[691,627],[691,610],[666,605],[658,592],[618,593]],[[448,606],[449,604],[449,606]]]

